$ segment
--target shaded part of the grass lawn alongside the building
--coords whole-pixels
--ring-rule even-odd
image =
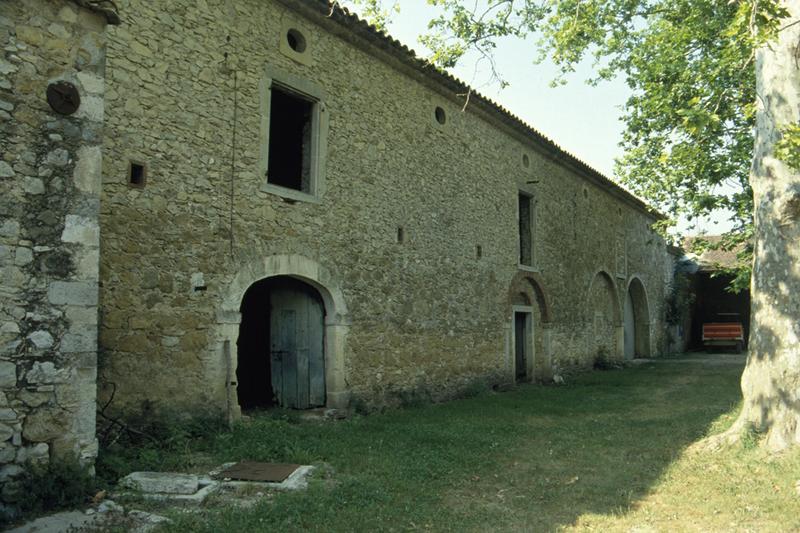
[[[260,416],[173,459],[324,463],[325,474],[247,510],[176,515],[170,530],[546,531],[625,513],[739,401],[740,375],[644,365],[335,423]]]

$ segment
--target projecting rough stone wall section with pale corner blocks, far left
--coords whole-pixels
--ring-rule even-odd
[[[63,0],[0,2],[0,496],[26,461],[91,463],[105,19]],[[78,110],[48,105],[74,84]]]

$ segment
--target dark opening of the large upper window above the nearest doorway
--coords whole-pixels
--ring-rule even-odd
[[[311,193],[314,102],[272,87],[267,181]]]

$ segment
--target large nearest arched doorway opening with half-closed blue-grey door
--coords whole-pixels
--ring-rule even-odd
[[[289,276],[262,279],[247,289],[240,312],[240,407],[325,405],[325,305],[317,289]]]

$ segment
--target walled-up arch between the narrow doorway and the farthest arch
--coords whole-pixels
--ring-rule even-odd
[[[589,283],[586,295],[587,362],[601,355],[621,360],[624,356],[624,329],[617,285],[605,270]]]

